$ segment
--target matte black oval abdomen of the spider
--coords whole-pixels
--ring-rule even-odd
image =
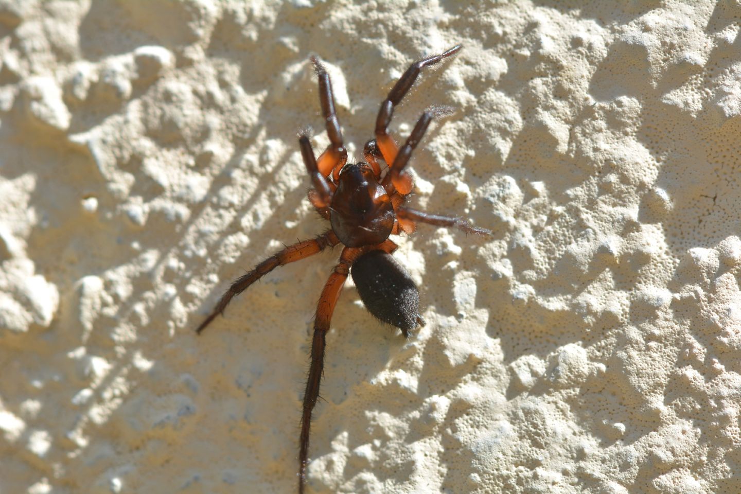
[[[360,256],[350,273],[368,312],[409,336],[422,323],[419,290],[407,270],[383,250]]]

